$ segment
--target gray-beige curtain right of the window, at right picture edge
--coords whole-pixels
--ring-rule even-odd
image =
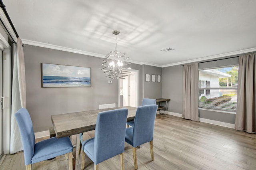
[[[256,53],[239,57],[236,130],[256,130]]]

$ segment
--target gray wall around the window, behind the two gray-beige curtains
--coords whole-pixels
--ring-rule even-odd
[[[239,58],[222,59],[199,63],[199,69],[236,65]],[[162,68],[162,97],[171,99],[168,111],[182,114],[182,87],[183,87],[183,67],[181,65]],[[199,109],[199,117],[220,121],[225,123],[235,123],[236,115],[216,111],[206,111]]]

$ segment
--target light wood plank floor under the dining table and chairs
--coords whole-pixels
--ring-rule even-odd
[[[94,131],[84,133],[84,139]],[[77,158],[81,169],[81,156]],[[193,122],[170,115],[157,115],[154,132],[154,161],[151,161],[149,143],[137,150],[138,170],[256,170],[256,134],[201,122]],[[132,146],[125,144],[126,170],[133,170]],[[86,170],[93,170],[86,156]],[[6,155],[0,169],[23,170],[23,152]],[[68,169],[65,156],[32,165],[33,170]],[[120,156],[99,164],[100,170],[120,169]]]

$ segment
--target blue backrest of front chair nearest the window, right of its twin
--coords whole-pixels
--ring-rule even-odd
[[[132,134],[133,147],[153,140],[157,108],[158,105],[145,105],[137,108]]]

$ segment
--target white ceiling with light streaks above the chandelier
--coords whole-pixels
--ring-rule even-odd
[[[161,67],[256,51],[256,0],[3,2],[27,44],[104,57],[114,51],[112,31],[118,30],[117,51]],[[175,50],[160,51],[167,47]]]

